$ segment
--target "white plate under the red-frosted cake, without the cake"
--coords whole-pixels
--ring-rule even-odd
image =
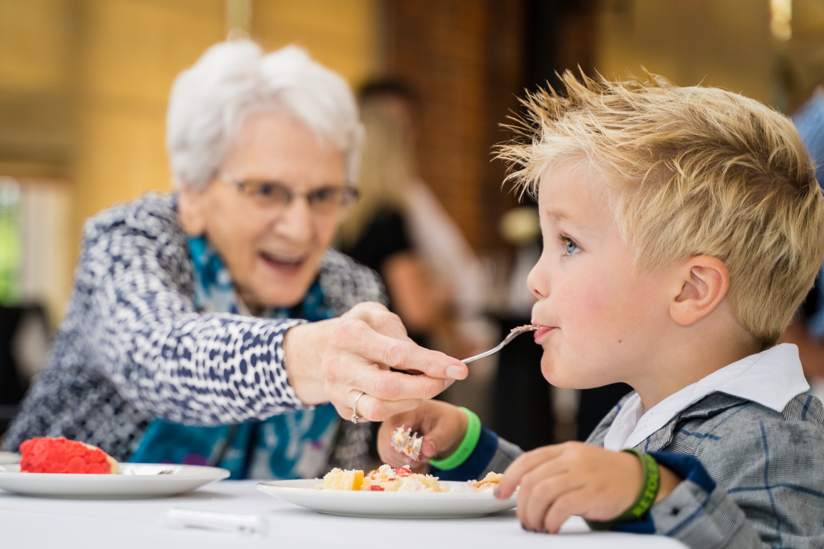
[[[171,471],[168,474],[157,474]],[[0,466],[0,488],[21,495],[68,498],[140,498],[182,494],[221,481],[226,469],[163,463],[120,463],[115,475],[20,472],[20,465]]]

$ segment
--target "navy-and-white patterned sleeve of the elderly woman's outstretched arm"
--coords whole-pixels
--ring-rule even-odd
[[[75,274],[86,299],[73,306],[88,308],[93,366],[138,409],[168,421],[218,425],[302,407],[283,369],[283,334],[299,321],[199,314],[179,228],[133,213],[87,225]]]

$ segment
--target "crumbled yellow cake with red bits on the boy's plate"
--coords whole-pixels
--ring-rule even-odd
[[[323,477],[322,490],[387,491],[387,492],[447,492],[449,486],[438,477],[412,472],[409,468],[393,469],[389,465],[364,475],[363,471],[342,471],[334,468]]]

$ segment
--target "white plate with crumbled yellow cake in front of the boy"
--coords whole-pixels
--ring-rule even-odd
[[[496,500],[502,477],[490,472],[480,481],[441,481],[438,477],[382,465],[364,474],[335,468],[322,479],[260,482],[257,489],[323,514],[373,519],[466,519],[513,509],[517,495]]]

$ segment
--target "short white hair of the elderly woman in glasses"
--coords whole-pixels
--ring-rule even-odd
[[[344,78],[297,46],[264,55],[254,42],[235,40],[207,49],[171,86],[166,150],[175,186],[204,188],[246,116],[269,109],[287,109],[342,151],[349,184],[358,181],[363,127]]]

